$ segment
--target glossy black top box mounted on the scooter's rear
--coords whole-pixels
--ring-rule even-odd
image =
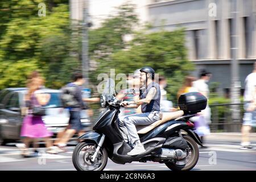
[[[188,92],[181,94],[178,105],[185,112],[199,113],[207,107],[207,98],[199,92]]]

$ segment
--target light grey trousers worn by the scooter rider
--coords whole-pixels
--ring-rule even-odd
[[[133,144],[139,140],[136,125],[151,125],[160,119],[160,111],[150,113],[131,114],[119,117],[119,128],[125,142]]]

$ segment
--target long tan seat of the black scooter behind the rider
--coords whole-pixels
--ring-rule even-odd
[[[170,121],[172,119],[177,119],[181,116],[183,116],[184,112],[183,110],[175,111],[175,112],[168,112],[168,113],[163,113],[162,119],[152,123],[151,125],[137,125],[137,133],[138,134],[145,134],[148,133],[148,131],[151,131],[155,127],[162,125],[163,123]]]

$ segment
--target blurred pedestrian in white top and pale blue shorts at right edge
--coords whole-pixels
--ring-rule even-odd
[[[242,142],[241,149],[253,149],[250,144],[250,130],[256,127],[256,62],[254,62],[253,72],[245,78],[245,93],[243,96],[245,102],[245,114],[242,124]]]

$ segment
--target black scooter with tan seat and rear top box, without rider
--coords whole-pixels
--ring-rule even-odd
[[[79,171],[101,171],[110,158],[117,164],[153,161],[176,171],[190,170],[199,159],[197,144],[202,144],[189,118],[206,105],[207,99],[200,93],[181,95],[179,106],[186,114],[139,134],[146,152],[129,156],[127,152],[133,148],[123,140],[118,126],[120,101],[112,94],[102,94],[101,106],[106,108],[98,116],[94,131],[79,137],[81,142],[73,151],[73,164]]]

